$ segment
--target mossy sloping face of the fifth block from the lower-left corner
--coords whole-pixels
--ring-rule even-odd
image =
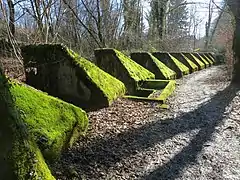
[[[171,70],[164,63],[159,61],[151,53],[148,54],[166,79],[176,79],[176,73],[173,70]]]

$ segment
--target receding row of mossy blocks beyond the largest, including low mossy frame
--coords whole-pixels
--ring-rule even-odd
[[[174,91],[174,79],[207,68],[216,62],[212,53],[136,52],[127,57],[114,49],[97,49],[95,57],[96,64],[101,69],[124,82],[128,90],[125,97],[160,103],[164,103]],[[128,64],[132,67],[129,68]],[[123,69],[119,69],[121,65],[124,66]],[[133,75],[129,77],[125,70]],[[147,71],[153,73],[154,77]],[[145,76],[138,76],[141,73]],[[148,88],[144,84],[148,84]],[[155,94],[159,95],[156,97]]]

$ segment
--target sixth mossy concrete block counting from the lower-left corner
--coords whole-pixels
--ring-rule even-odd
[[[171,54],[166,52],[154,52],[152,55],[175,71],[177,73],[177,78],[181,78],[183,75],[189,74],[189,68]]]

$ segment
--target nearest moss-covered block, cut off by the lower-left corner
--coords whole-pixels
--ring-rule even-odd
[[[8,80],[0,70],[0,174],[9,180],[54,180],[32,134],[15,105]],[[40,103],[40,102],[39,102]],[[35,108],[31,106],[31,108]]]

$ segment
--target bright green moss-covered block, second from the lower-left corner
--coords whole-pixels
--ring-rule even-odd
[[[80,108],[23,84],[10,85],[28,131],[48,160],[57,158],[63,148],[71,146],[87,130],[87,115]]]

